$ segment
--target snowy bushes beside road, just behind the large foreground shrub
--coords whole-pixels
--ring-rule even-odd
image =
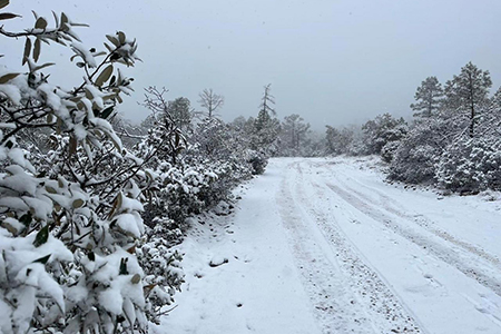
[[[193,131],[183,134],[171,120],[166,92],[147,90],[144,106],[153,115],[145,122],[148,135],[136,151],[141,158],[156,151],[147,174],[155,179],[153,187],[158,191],[148,200],[143,217],[156,237],[173,246],[181,242],[189,227],[185,223],[188,217],[227,200],[230,190],[250,178],[254,168],[262,171],[267,160],[248,149],[234,127],[216,117],[206,117],[196,126],[186,125]],[[253,163],[254,157],[259,160]],[[163,226],[160,234],[158,224]]]

